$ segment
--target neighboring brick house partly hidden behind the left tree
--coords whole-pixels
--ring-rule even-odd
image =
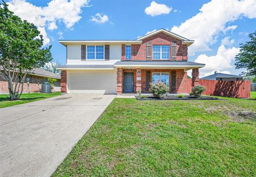
[[[41,68],[36,68],[33,73],[27,75],[26,83],[24,83],[23,86],[23,93],[40,92],[41,84],[47,81],[47,77],[57,79],[57,82],[54,84],[54,91],[60,91],[60,75]],[[1,76],[0,93],[9,93],[7,81]]]

